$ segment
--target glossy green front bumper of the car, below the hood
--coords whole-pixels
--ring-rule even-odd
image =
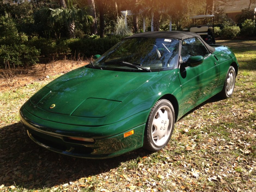
[[[120,121],[108,126],[100,127],[83,127],[79,126],[79,130],[91,129],[115,129],[117,126],[123,126],[125,130],[117,135],[109,137],[95,137],[94,142],[75,141],[68,139],[68,137],[86,137],[86,132],[74,132],[72,127],[74,125],[56,123],[38,118],[29,113],[24,106],[20,109],[20,119],[26,127],[29,137],[38,145],[47,148],[48,150],[57,153],[82,157],[88,159],[104,159],[118,156],[129,151],[142,147],[145,123],[132,129],[126,129],[125,124]],[[36,123],[37,122],[37,123]],[[40,122],[40,123],[38,123]],[[61,129],[54,129],[55,127],[68,127],[63,131]],[[77,126],[76,126],[77,127]],[[124,138],[124,133],[129,130],[134,130],[134,134]]]

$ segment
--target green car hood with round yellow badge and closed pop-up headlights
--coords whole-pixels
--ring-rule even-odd
[[[54,113],[104,117],[157,73],[81,67],[46,85],[31,102]]]

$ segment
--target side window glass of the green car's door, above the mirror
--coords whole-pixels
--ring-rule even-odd
[[[207,56],[209,51],[205,45],[197,38],[188,38],[182,40],[181,44],[181,57],[183,61],[187,61],[191,56]]]

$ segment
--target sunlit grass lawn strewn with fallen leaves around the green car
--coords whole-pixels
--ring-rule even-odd
[[[212,97],[175,124],[163,150],[106,160],[48,151],[31,141],[20,106],[59,75],[0,90],[0,191],[256,191],[256,41],[225,40],[240,64],[231,98]]]

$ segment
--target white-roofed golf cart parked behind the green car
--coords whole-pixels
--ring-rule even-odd
[[[212,26],[207,25],[208,18],[212,20]],[[189,19],[192,19],[193,21],[193,25],[190,28],[190,32],[195,32],[198,35],[200,35],[207,44],[215,44],[214,15],[197,15],[197,16],[189,17]],[[205,19],[205,22],[204,22],[205,24],[196,25],[196,20],[198,19]],[[183,31],[188,31],[188,29],[183,29]]]

